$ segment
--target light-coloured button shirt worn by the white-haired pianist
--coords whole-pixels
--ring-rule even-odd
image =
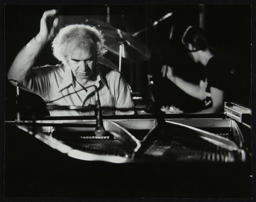
[[[128,84],[119,71],[97,63],[93,84],[99,90],[102,107],[134,108]],[[95,88],[76,90],[77,85],[79,84],[70,67],[63,64],[32,67],[23,80],[23,86],[41,95],[47,105],[96,105]],[[49,110],[49,112],[51,116],[94,115],[94,111]],[[126,112],[104,110],[102,113],[103,115],[134,114],[134,110]]]

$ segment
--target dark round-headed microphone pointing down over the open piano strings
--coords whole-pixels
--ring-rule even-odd
[[[94,133],[96,136],[104,136],[106,131],[102,121],[102,110],[100,108],[99,91],[96,86],[94,87],[96,92],[96,108],[97,108],[97,110],[95,111],[97,115],[96,115],[96,127],[95,127]]]

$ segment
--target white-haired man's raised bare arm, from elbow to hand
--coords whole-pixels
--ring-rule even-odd
[[[55,9],[44,12],[41,18],[40,32],[17,54],[8,71],[8,79],[17,80],[21,84],[26,78],[26,73],[34,65],[39,53],[55,34],[58,18],[54,20],[52,18],[55,17],[56,12]]]

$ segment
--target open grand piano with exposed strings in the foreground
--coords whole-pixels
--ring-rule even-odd
[[[138,112],[6,121],[5,195],[251,198],[250,109]]]

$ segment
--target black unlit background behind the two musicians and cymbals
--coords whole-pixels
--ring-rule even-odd
[[[195,64],[181,44],[187,26],[199,26],[199,5],[110,5],[110,24],[128,33],[137,32],[152,25],[165,14],[174,12],[154,28],[137,36],[151,50],[148,61],[122,59],[122,73],[134,92],[145,95],[148,89],[147,74],[159,81],[157,87],[161,104],[174,104],[184,112],[193,112],[198,106],[195,98],[160,77],[163,64],[174,66],[175,74],[185,80],[198,83],[202,66]],[[205,29],[212,46],[227,55],[235,64],[238,80],[234,84],[237,97],[234,101],[250,106],[251,91],[251,6],[250,5],[205,5]],[[6,72],[17,53],[40,29],[40,19],[45,10],[58,9],[59,28],[70,23],[85,23],[87,17],[106,21],[107,6],[15,6],[5,7],[5,55]],[[171,26],[173,37],[169,39]],[[111,52],[105,55],[118,66],[118,56]],[[48,44],[35,66],[59,63]],[[6,84],[6,110],[13,109],[15,89]],[[148,102],[145,97],[145,102]],[[7,117],[12,116],[6,113]]]

